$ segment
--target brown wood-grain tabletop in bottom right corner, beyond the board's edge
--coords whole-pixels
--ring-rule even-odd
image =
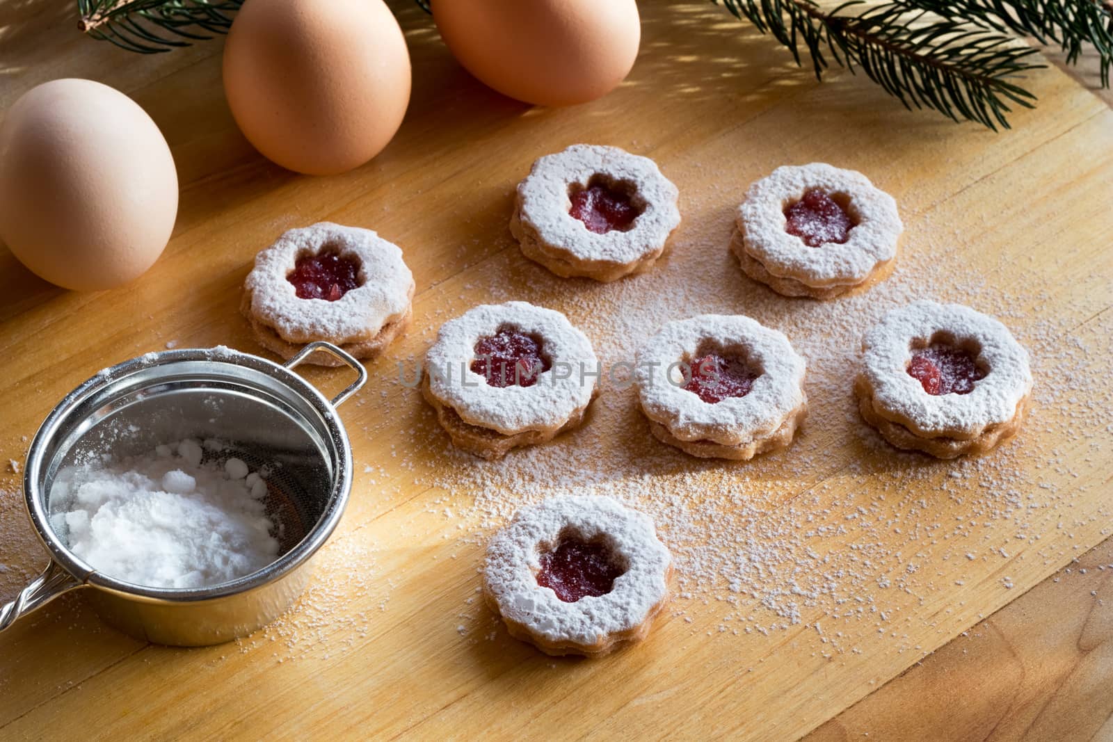
[[[1111,682],[1107,540],[806,740],[1111,740]]]

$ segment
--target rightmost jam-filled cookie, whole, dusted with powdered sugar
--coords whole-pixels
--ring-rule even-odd
[[[885,315],[861,349],[858,408],[898,448],[954,458],[989,451],[1021,427],[1028,354],[993,317],[914,301]]]

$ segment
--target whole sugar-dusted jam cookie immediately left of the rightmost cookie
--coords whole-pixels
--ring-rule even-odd
[[[741,315],[671,321],[638,354],[642,412],[692,456],[747,461],[785,448],[807,414],[805,363],[788,338]]]

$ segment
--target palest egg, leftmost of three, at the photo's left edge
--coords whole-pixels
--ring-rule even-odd
[[[166,247],[178,175],[162,133],[124,93],[53,80],[0,126],[0,240],[32,271],[75,289],[126,284]]]

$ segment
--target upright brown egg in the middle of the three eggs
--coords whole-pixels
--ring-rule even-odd
[[[247,0],[224,48],[224,90],[265,157],[308,175],[377,155],[410,102],[410,53],[382,0]]]

